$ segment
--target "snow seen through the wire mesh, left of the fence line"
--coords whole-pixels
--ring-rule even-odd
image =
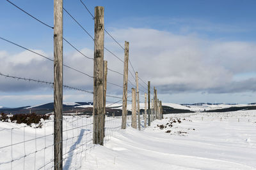
[[[80,169],[86,153],[93,145],[93,117],[63,116],[63,169]],[[12,128],[9,128],[12,124]],[[106,143],[113,132],[120,131],[122,117],[105,117],[102,130]],[[131,119],[127,120],[127,125]],[[4,126],[8,127],[5,128]],[[54,169],[54,116],[38,124],[26,125],[3,122],[0,127],[0,169]]]

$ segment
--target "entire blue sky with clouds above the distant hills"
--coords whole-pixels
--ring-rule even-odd
[[[53,25],[53,1],[12,2]],[[256,101],[256,87],[253,86],[256,82],[256,1],[94,0],[84,3],[92,13],[95,6],[104,6],[105,28],[122,45],[124,41],[130,42],[130,59],[136,71],[143,80],[152,81],[164,102]],[[83,4],[79,0],[64,1],[63,6],[93,36],[93,20]],[[63,17],[63,36],[92,57],[92,39],[67,13],[63,12]],[[7,1],[0,2],[0,20],[1,37],[52,57],[52,29]],[[122,58],[122,50],[108,35],[105,34],[105,38],[105,46]],[[92,74],[92,61],[82,59],[65,42],[63,45],[64,62]],[[109,68],[122,73],[122,63],[108,52],[105,52],[105,59]],[[52,81],[51,62],[38,59],[2,40],[0,60],[1,73]],[[148,70],[154,64],[156,70]],[[92,90],[92,80],[68,69],[64,73],[68,85]],[[132,80],[131,75],[129,78]],[[109,73],[109,81],[122,85],[122,76]],[[52,102],[51,87],[1,77],[0,82],[0,106]],[[122,89],[109,86],[109,94],[120,95]],[[92,101],[92,96],[65,90],[64,101]]]

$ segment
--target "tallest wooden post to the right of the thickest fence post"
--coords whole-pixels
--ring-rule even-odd
[[[126,129],[127,120],[127,82],[128,82],[128,60],[129,60],[129,42],[124,44],[124,84],[123,84],[123,107],[122,107],[122,129]]]

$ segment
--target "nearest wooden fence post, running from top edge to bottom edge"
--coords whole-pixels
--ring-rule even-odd
[[[54,169],[62,169],[63,1],[54,0]]]

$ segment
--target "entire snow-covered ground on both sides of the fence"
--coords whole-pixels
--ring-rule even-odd
[[[106,120],[99,146],[92,117],[64,117],[63,169],[256,169],[255,110],[164,115],[142,131],[131,117],[126,130],[120,117]],[[0,122],[0,169],[52,169],[52,127]]]

